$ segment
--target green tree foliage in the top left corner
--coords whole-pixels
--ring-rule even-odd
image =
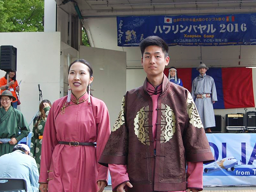
[[[0,32],[44,31],[44,0],[0,0]]]

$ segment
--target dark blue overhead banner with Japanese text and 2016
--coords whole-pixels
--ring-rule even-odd
[[[117,17],[118,46],[157,35],[169,46],[256,44],[256,14]]]

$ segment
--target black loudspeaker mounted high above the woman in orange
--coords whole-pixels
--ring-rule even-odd
[[[2,45],[0,49],[0,70],[6,72],[17,70],[17,48]]]

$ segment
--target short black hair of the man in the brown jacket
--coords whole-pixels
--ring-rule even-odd
[[[143,53],[145,52],[145,49],[151,45],[156,45],[158,47],[161,47],[165,57],[168,56],[169,47],[166,44],[166,42],[163,41],[163,39],[158,36],[149,36],[140,42],[140,51],[142,56],[143,56]]]

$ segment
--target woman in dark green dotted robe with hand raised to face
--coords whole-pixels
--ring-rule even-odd
[[[35,122],[33,128],[32,139],[31,139],[31,152],[30,155],[35,158],[36,164],[38,166],[38,171],[40,172],[40,162],[41,162],[41,146],[43,142],[44,125],[47,120],[47,116],[52,104],[49,100],[44,99],[39,105],[40,116]]]

